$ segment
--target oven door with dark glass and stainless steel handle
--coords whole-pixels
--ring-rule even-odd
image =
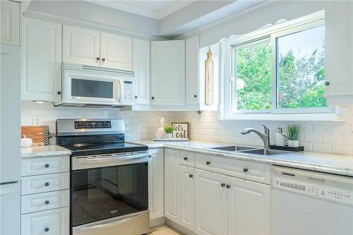
[[[148,210],[146,152],[72,157],[71,161],[71,227]]]

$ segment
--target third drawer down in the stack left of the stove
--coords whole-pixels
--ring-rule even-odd
[[[50,210],[59,207],[67,207],[70,201],[70,191],[54,191],[24,195],[21,197],[21,214]]]

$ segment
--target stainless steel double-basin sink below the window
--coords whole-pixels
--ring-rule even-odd
[[[246,147],[246,146],[238,146],[238,145],[231,145],[231,146],[224,146],[224,147],[210,147],[211,150],[221,150],[224,152],[242,152],[248,153],[251,155],[261,155],[261,156],[271,156],[271,155],[283,155],[288,154],[290,152],[283,151],[283,150],[267,150],[258,147]]]

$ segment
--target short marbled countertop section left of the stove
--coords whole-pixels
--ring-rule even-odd
[[[59,145],[21,147],[21,157],[57,157],[71,155],[71,151]]]

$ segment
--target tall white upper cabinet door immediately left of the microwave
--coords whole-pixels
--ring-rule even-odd
[[[61,24],[23,17],[22,100],[61,100]]]

